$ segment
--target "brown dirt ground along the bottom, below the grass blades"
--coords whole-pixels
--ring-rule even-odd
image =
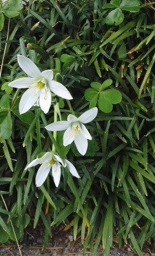
[[[27,229],[25,231],[25,237],[23,241],[19,242],[19,247],[22,256],[28,255],[53,255],[53,256],[82,256],[83,246],[81,244],[81,237],[78,237],[76,241],[73,240],[72,231],[63,231],[63,229],[52,230],[53,237],[49,238],[47,249],[42,250],[43,246],[43,230]],[[110,251],[110,255],[119,256],[133,256],[130,252],[130,246],[125,246],[121,250],[117,246],[113,246]],[[7,242],[6,244],[0,244],[0,256],[18,256],[20,255],[17,246],[13,242]],[[90,256],[91,253],[87,251],[85,255]],[[96,256],[104,255],[104,252],[100,246]]]

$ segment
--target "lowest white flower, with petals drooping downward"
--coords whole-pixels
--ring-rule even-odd
[[[43,185],[47,179],[50,169],[52,169],[52,176],[54,178],[55,185],[59,186],[61,166],[67,166],[70,173],[72,173],[73,176],[79,178],[79,174],[74,165],[67,159],[62,160],[56,153],[47,152],[45,155],[43,155],[43,157],[34,159],[32,162],[30,162],[30,164],[28,164],[28,166],[26,166],[25,170],[32,166],[36,166],[37,164],[41,164],[41,166],[37,171],[36,186]]]

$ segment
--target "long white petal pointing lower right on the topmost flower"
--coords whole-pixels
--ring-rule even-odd
[[[72,99],[70,92],[63,84],[52,80],[48,81],[48,86],[57,96],[62,97],[63,99]]]

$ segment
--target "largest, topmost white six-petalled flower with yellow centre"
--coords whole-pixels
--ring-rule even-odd
[[[20,114],[25,113],[36,104],[37,99],[39,99],[39,106],[46,114],[51,105],[51,92],[64,99],[72,99],[70,92],[63,84],[52,80],[52,70],[41,72],[32,60],[22,55],[17,55],[17,61],[21,69],[29,76],[19,78],[8,84],[8,86],[15,88],[28,88],[19,103]]]

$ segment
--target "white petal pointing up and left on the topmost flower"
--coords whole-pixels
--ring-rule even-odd
[[[30,58],[26,58],[22,55],[17,55],[17,61],[19,66],[27,75],[30,77],[40,77],[41,76],[41,71],[39,68],[37,68],[36,64]]]

